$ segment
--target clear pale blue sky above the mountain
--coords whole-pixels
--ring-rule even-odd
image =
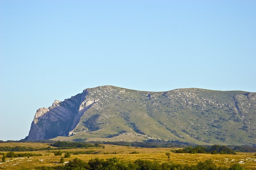
[[[256,92],[256,1],[0,1],[0,140],[100,85]]]

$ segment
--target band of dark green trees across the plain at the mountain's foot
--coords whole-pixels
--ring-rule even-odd
[[[212,153],[212,154],[235,154],[235,152],[256,152],[255,146],[195,146],[190,145],[189,143],[179,143],[179,141],[164,141],[150,139],[146,142],[66,142],[66,141],[57,141],[50,144],[50,146],[45,148],[33,148],[25,146],[0,146],[0,152],[28,152],[28,151],[47,151],[47,150],[60,150],[60,149],[72,149],[72,148],[89,148],[89,147],[101,147],[100,144],[113,144],[121,146],[135,146],[143,148],[164,148],[164,147],[185,147],[184,149],[175,150],[176,153]],[[181,145],[179,145],[181,144]],[[53,148],[53,147],[56,148]],[[104,147],[104,146],[103,146]]]

